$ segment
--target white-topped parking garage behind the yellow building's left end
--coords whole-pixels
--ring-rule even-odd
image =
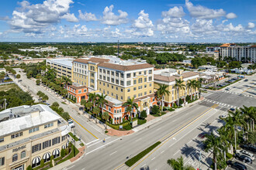
[[[73,59],[71,58],[47,59],[47,66],[50,66],[50,68],[54,68],[57,71],[57,77],[67,76],[71,78],[72,61]]]

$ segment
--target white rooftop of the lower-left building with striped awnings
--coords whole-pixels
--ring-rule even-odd
[[[12,107],[0,112],[0,137],[57,120],[64,121],[54,110],[44,104]]]

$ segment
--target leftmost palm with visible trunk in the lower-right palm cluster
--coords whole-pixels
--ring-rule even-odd
[[[206,152],[208,152],[211,148],[213,148],[213,162],[214,162],[214,169],[217,168],[217,155],[220,151],[220,138],[216,137],[213,132],[211,134],[206,134],[206,140],[203,141],[206,145]]]

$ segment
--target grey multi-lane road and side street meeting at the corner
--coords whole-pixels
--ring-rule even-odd
[[[127,169],[124,162],[148,148],[157,141],[161,145],[142,158],[130,169],[167,169],[168,158],[182,156],[185,165],[199,168],[199,152],[202,154],[201,168],[210,165],[211,152],[202,150],[202,140],[198,135],[202,132],[214,131],[223,125],[219,116],[227,114],[229,108],[255,106],[255,76],[248,76],[248,81],[241,80],[231,85],[232,89],[209,91],[204,93],[205,100],[191,107],[185,107],[176,114],[145,128],[142,131],[124,136],[108,137],[104,130],[89,121],[83,115],[78,115],[77,107],[61,104],[61,99],[45,87],[36,86],[33,80],[27,80],[22,75],[22,83],[30,87],[32,93],[38,90],[47,93],[49,103],[57,101],[64,110],[76,120],[76,129],[85,141],[86,154],[78,162],[65,169]],[[106,138],[106,142],[102,142]]]

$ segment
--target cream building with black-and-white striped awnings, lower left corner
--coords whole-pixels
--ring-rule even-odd
[[[0,112],[0,169],[33,168],[50,162],[67,147],[69,128],[54,110],[43,104],[13,107]]]

